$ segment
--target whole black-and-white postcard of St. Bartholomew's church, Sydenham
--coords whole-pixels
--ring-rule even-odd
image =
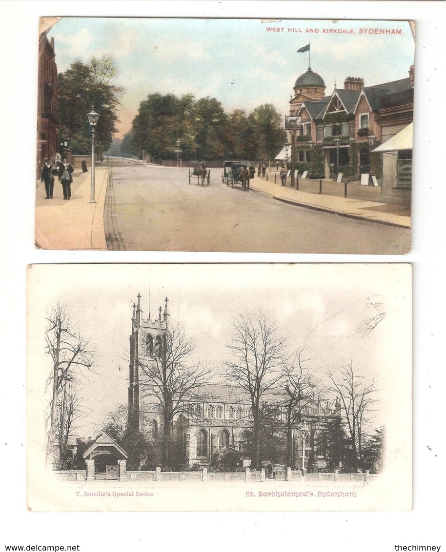
[[[30,511],[412,503],[410,264],[28,268]]]

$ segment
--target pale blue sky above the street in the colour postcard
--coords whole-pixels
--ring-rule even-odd
[[[116,84],[125,89],[115,137],[131,129],[140,102],[155,92],[215,97],[228,112],[271,103],[285,118],[293,85],[309,66],[308,52],[297,53],[307,44],[326,95],[346,77],[361,77],[365,86],[406,78],[414,62],[406,21],[64,17],[48,36],[55,39],[59,72],[113,55]]]

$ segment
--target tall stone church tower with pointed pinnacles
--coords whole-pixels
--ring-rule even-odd
[[[170,317],[167,307],[169,299],[166,297],[164,301],[164,313],[161,314],[162,308],[159,307],[157,320],[150,319],[150,303],[148,317],[146,319],[143,317],[140,294],[138,294],[138,303],[133,304],[132,333],[129,336],[128,428],[130,431],[146,433],[150,426],[152,433],[158,431],[158,413],[150,405],[141,404],[141,386],[144,386],[144,369],[149,369],[151,364],[156,365],[156,359],[161,358],[164,351]],[[141,412],[147,415],[141,416]]]

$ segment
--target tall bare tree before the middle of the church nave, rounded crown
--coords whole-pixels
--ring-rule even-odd
[[[275,322],[260,312],[255,319],[240,316],[233,323],[233,359],[225,362],[227,378],[246,392],[253,411],[253,458],[251,465],[260,468],[260,407],[265,394],[276,388],[287,363],[286,340],[279,335]]]

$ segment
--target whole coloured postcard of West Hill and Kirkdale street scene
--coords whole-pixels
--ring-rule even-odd
[[[414,34],[41,18],[36,247],[407,253]]]

